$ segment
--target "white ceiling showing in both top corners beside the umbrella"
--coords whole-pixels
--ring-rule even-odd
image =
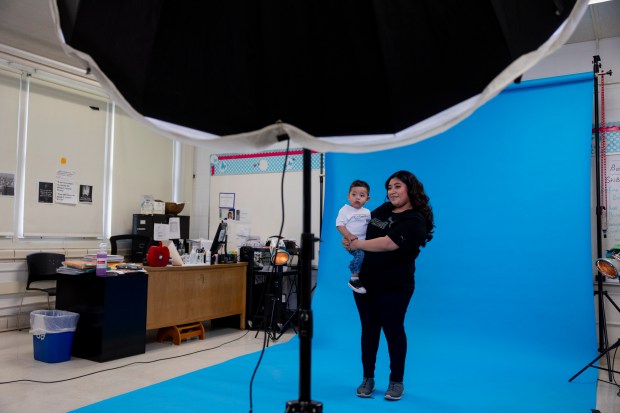
[[[620,36],[620,0],[588,6],[567,43],[580,43]],[[62,51],[55,34],[51,11],[41,0],[0,0],[0,53],[20,61],[81,68],[79,61]],[[8,60],[8,59],[7,59]],[[60,65],[55,63],[59,62]]]

